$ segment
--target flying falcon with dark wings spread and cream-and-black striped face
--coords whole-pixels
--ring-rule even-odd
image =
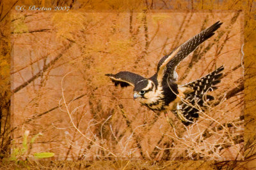
[[[198,119],[200,111],[204,111],[207,103],[214,99],[207,95],[207,92],[217,89],[216,85],[220,83],[221,71],[224,67],[221,66],[212,73],[185,85],[176,83],[178,75],[175,69],[198,45],[211,38],[221,24],[220,21],[216,22],[165,55],[157,64],[156,73],[150,78],[129,71],[106,74],[106,76],[109,76],[115,86],[132,86],[133,98],[158,114],[164,112],[170,125],[173,126],[173,121],[168,117],[169,110],[184,125],[193,124]]]

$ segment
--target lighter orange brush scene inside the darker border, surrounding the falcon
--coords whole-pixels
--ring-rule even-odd
[[[243,160],[243,17],[237,12],[13,13],[12,138],[38,133],[24,159]],[[177,67],[180,85],[225,66],[214,104],[168,125],[106,73],[150,77],[158,61],[217,21],[212,38]]]

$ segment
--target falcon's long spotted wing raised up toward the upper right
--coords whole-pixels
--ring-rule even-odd
[[[176,66],[185,59],[189,53],[193,52],[198,45],[203,43],[206,39],[211,38],[214,35],[214,31],[220,28],[222,23],[220,21],[211,25],[204,31],[200,32],[193,38],[186,41],[179,47],[175,48],[172,53],[165,55],[157,65],[157,81],[163,81],[164,74],[168,74],[169,78],[176,80],[175,69]]]

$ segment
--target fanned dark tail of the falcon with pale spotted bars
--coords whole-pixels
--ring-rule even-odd
[[[180,104],[180,110],[175,112],[179,117],[181,113],[181,115],[185,118],[183,118],[183,120],[180,119],[184,125],[193,124],[196,118],[199,117],[198,113],[200,109],[198,108],[200,107],[202,110],[204,110],[205,103],[214,99],[214,97],[205,93],[212,92],[213,90],[217,89],[215,85],[220,83],[222,76],[221,71],[223,71],[223,69],[224,67],[221,66],[215,71],[212,71],[212,73],[209,73],[198,80],[192,81],[186,85],[182,85],[181,88],[185,87],[190,89],[190,91],[187,93],[184,92],[185,99]]]

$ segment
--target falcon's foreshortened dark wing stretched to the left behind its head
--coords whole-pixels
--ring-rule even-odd
[[[116,85],[121,85],[121,87],[127,87],[131,85],[134,87],[138,81],[145,80],[143,76],[140,76],[135,73],[131,73],[129,71],[120,71],[117,74],[105,74],[109,76],[109,78],[115,83]]]

